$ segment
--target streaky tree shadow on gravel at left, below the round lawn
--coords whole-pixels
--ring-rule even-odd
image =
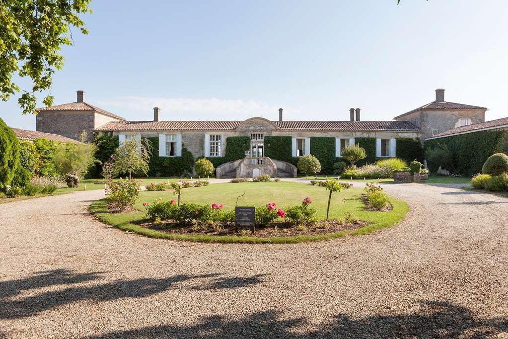
[[[104,272],[75,273],[59,269],[38,272],[30,278],[0,282],[0,319],[18,319],[37,315],[43,311],[53,310],[58,306],[76,301],[102,302],[121,298],[144,298],[174,288],[175,283],[191,279],[210,279],[219,273],[187,275],[180,274],[161,279],[119,280],[108,284],[66,286],[103,279]],[[247,278],[216,278],[208,285],[198,283],[192,289],[216,290],[236,289],[261,284],[258,274]],[[23,291],[36,290],[44,287],[63,285],[56,291],[42,292],[19,300],[8,300]],[[140,301],[142,302],[142,301]]]

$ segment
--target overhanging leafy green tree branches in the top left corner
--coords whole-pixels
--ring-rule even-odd
[[[0,1],[0,99],[21,89],[13,81],[29,77],[32,87],[24,89],[18,103],[23,114],[36,113],[36,93],[50,89],[55,70],[61,70],[63,45],[72,45],[71,26],[88,34],[81,13],[91,13],[90,0]],[[43,99],[46,106],[53,97]]]

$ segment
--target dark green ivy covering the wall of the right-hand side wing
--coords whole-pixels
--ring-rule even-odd
[[[493,153],[504,131],[480,131],[451,137],[426,140],[425,149],[434,148],[441,143],[447,145],[452,153],[454,174],[474,175],[482,171],[482,166]],[[437,164],[438,165],[438,164]],[[429,167],[436,164],[429,164]]]

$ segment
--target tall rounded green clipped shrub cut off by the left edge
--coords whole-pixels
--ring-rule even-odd
[[[12,129],[0,118],[0,191],[11,184],[19,167],[19,141]]]

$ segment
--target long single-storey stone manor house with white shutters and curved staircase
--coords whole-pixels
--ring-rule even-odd
[[[182,147],[194,158],[225,157],[228,137],[248,137],[250,147],[245,157],[221,164],[217,177],[256,176],[262,173],[295,176],[296,167],[287,161],[265,157],[267,136],[291,137],[292,157],[311,153],[313,137],[335,139],[335,157],[355,143],[355,138],[375,139],[376,158],[396,157],[398,138],[421,141],[468,125],[485,122],[487,108],[444,101],[444,89],[435,90],[435,100],[394,117],[390,121],[363,121],[360,109],[351,108],[344,121],[287,121],[279,109],[278,120],[251,117],[247,120],[162,120],[161,110],[153,108],[149,121],[127,121],[84,100],[84,91],[77,91],[74,103],[41,108],[37,114],[37,131],[59,134],[78,140],[86,131],[90,140],[94,133],[112,133],[119,143],[158,138],[158,157],[181,157]],[[346,114],[345,114],[346,115]],[[346,115],[347,116],[347,115]]]

